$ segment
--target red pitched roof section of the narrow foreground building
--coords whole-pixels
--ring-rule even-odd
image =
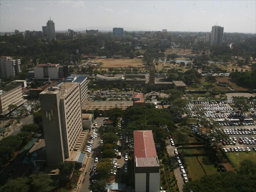
[[[156,157],[151,130],[134,130],[134,160],[136,157]]]

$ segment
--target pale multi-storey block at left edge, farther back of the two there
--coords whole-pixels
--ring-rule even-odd
[[[20,59],[12,59],[10,56],[0,57],[0,78],[15,76],[20,71]]]

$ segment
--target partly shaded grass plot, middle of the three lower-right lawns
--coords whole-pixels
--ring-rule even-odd
[[[218,162],[216,157],[214,157],[214,156],[198,156],[198,158],[199,158],[206,174],[220,173],[220,171],[217,172],[217,167],[214,167],[214,162]]]

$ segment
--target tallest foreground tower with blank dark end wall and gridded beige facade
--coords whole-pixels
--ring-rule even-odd
[[[48,165],[64,162],[82,131],[79,83],[52,86],[40,94]]]

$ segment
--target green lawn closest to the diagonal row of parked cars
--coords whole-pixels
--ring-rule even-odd
[[[184,156],[184,165],[187,176],[192,180],[198,179],[204,175],[203,169],[196,156]]]

